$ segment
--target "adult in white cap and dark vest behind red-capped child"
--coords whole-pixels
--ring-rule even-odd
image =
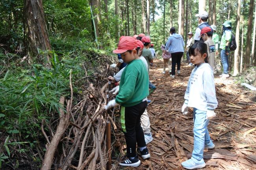
[[[208,12],[202,11],[201,13],[197,14],[196,17],[198,17],[198,27],[196,29],[195,36],[194,36],[195,42],[201,40],[199,38],[201,29],[203,29],[204,27],[210,27],[207,22],[207,20],[209,18]],[[211,30],[211,31],[213,32],[213,30]]]

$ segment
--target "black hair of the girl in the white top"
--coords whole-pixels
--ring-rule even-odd
[[[200,53],[201,55],[203,55],[204,53],[206,53],[206,58],[204,58],[204,61],[207,63],[207,59],[208,59],[208,53],[207,53],[207,45],[202,42],[202,41],[198,41],[195,44],[193,44],[189,50],[188,53],[189,55],[197,55],[197,53]]]

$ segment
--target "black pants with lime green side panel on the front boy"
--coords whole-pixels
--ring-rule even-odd
[[[127,146],[127,157],[136,156],[136,143],[138,147],[146,146],[143,129],[140,124],[141,115],[146,108],[147,101],[130,107],[121,106],[120,119]]]

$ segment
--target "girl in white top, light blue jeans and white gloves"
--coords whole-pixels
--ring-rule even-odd
[[[204,149],[213,149],[215,145],[210,139],[207,129],[209,119],[215,117],[214,109],[218,102],[215,94],[214,77],[211,66],[207,61],[207,46],[204,42],[197,42],[189,48],[189,57],[197,66],[193,69],[187,90],[182,113],[187,114],[188,107],[193,107],[194,118],[194,149],[191,159],[182,163],[187,169],[205,167]]]

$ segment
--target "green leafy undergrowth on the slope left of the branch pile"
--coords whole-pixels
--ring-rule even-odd
[[[89,47],[90,42],[53,40],[51,43],[54,50],[47,52],[52,56],[50,69],[41,64],[28,64],[26,60],[20,62],[22,57],[0,51],[2,168],[8,165],[14,169],[26,169],[21,163],[32,167],[33,162],[32,169],[39,169],[41,160],[36,149],[39,148],[44,154],[46,143],[41,132],[41,121],[45,119],[49,123],[50,119],[58,118],[60,96],[70,97],[70,73],[76,104],[82,96],[82,85],[87,83],[86,79],[82,79],[85,69],[87,76],[95,77],[101,71],[98,66],[107,62],[111,64],[108,53],[93,45]],[[90,81],[96,80],[91,78]],[[48,133],[48,128],[45,131]]]

